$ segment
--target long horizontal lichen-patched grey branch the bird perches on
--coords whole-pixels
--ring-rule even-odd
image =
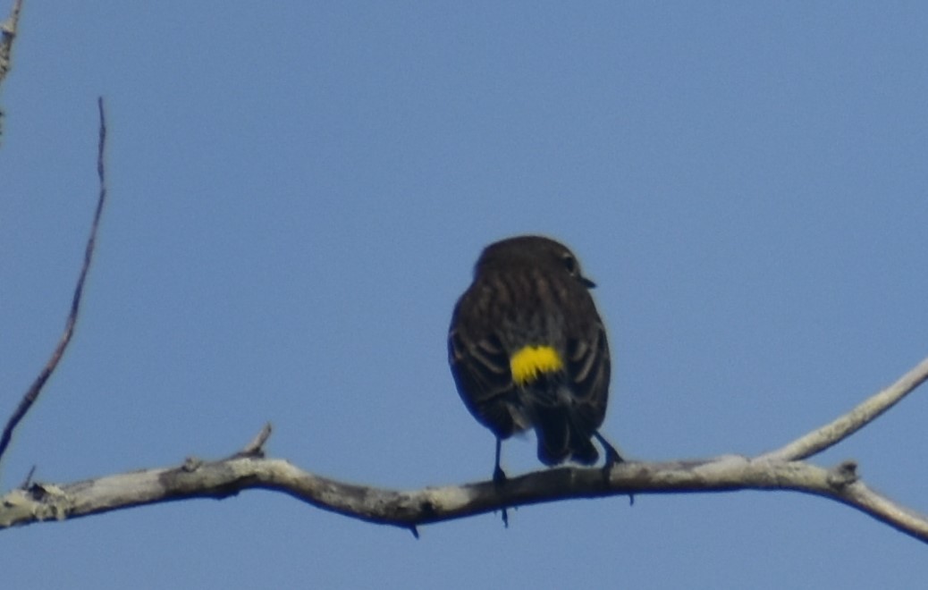
[[[853,462],[825,469],[800,461],[739,455],[667,463],[631,461],[616,465],[609,473],[600,468],[555,468],[510,479],[501,487],[482,481],[415,491],[335,481],[283,459],[242,454],[215,462],[187,459],[176,468],[146,469],[66,485],[34,483],[29,489],[15,490],[0,498],[0,529],[174,500],[225,498],[248,489],[290,494],[315,507],[414,533],[422,524],[572,498],[791,490],[856,507],[928,542],[928,517],[870,490],[857,480]]]

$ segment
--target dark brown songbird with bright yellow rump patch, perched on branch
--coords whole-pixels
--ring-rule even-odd
[[[535,429],[538,459],[606,466],[621,455],[599,434],[609,398],[606,329],[580,263],[548,237],[510,237],[487,246],[455,306],[448,362],[470,414],[501,442]]]

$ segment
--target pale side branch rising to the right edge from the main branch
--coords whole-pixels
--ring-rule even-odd
[[[928,379],[928,359],[914,366],[883,391],[873,395],[856,408],[838,417],[825,426],[813,430],[786,446],[757,457],[758,459],[777,459],[796,461],[812,455],[818,455],[825,449],[843,441],[870,424],[870,422],[896,405],[902,398]]]

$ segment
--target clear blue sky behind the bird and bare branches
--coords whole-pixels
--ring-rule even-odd
[[[4,2],[6,14],[11,2]],[[0,473],[271,455],[346,481],[489,477],[446,365],[486,243],[599,283],[604,431],[757,454],[928,354],[923,3],[43,3],[0,96],[0,412],[71,350]],[[815,462],[928,511],[926,391]],[[510,473],[539,468],[505,445]],[[926,547],[789,493],[638,496],[402,530],[282,494],[0,532],[5,588],[906,588]]]

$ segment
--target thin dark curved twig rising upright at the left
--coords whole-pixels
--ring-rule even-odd
[[[16,429],[22,418],[29,412],[32,404],[35,404],[35,400],[39,398],[39,393],[41,393],[42,388],[45,387],[45,382],[55,371],[58,362],[61,360],[65,350],[68,348],[68,344],[71,342],[71,337],[74,335],[74,326],[77,324],[77,314],[81,308],[81,296],[84,294],[84,281],[87,278],[87,272],[90,270],[90,263],[94,258],[97,230],[100,226],[100,216],[103,213],[103,205],[107,197],[106,171],[103,164],[107,139],[107,123],[106,117],[104,116],[102,96],[97,98],[97,109],[100,113],[100,133],[97,143],[97,175],[100,181],[100,194],[97,198],[97,211],[94,212],[94,221],[90,226],[90,237],[87,238],[87,245],[84,249],[84,265],[81,267],[81,274],[78,276],[77,286],[74,288],[74,295],[71,299],[71,313],[68,314],[68,321],[65,323],[64,333],[61,335],[61,339],[58,340],[58,346],[55,348],[55,352],[52,353],[51,358],[48,359],[42,371],[39,372],[38,377],[32,382],[32,387],[22,396],[16,411],[13,412],[13,415],[10,416],[9,420],[6,422],[3,435],[0,436],[0,459],[3,458],[6,447],[9,446],[9,442],[13,438],[13,430]]]

